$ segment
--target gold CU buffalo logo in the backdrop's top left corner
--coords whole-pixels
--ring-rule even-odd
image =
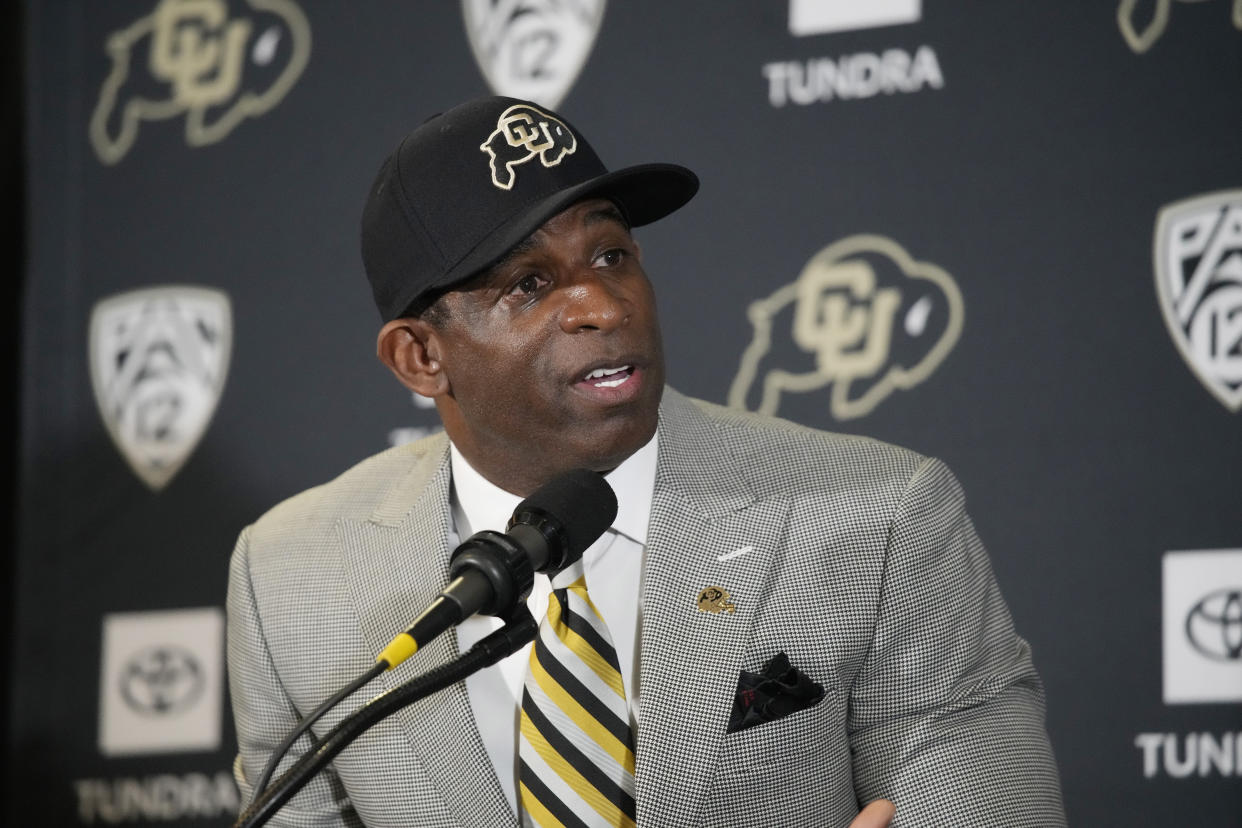
[[[310,57],[310,26],[292,0],[160,0],[108,37],[112,71],[91,115],[104,164],[134,145],[144,120],[185,115],[185,143],[224,139],[281,102]]]

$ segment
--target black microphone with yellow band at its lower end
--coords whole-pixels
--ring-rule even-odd
[[[452,581],[375,660],[392,669],[474,613],[509,614],[530,595],[537,571],[579,560],[616,516],[616,494],[599,473],[575,469],[553,478],[518,504],[505,533],[474,533],[453,551]]]

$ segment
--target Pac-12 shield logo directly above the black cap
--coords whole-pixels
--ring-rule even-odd
[[[595,46],[604,0],[463,0],[462,12],[492,91],[555,109]]]

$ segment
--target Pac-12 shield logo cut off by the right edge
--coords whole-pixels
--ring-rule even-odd
[[[1242,410],[1242,190],[1166,205],[1156,216],[1156,297],[1190,370]]]

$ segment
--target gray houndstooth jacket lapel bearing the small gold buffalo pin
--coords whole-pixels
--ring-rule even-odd
[[[756,500],[714,426],[673,391],[660,427],[642,587],[638,821],[688,826],[723,750],[787,504]],[[699,610],[699,592],[713,586],[729,592],[733,612]]]

